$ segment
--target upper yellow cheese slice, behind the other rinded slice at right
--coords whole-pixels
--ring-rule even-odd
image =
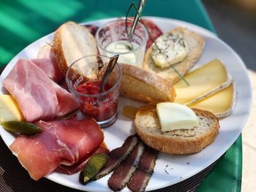
[[[174,85],[178,104],[191,104],[203,99],[206,95],[217,93],[231,84],[232,79],[227,74],[227,70],[221,61],[215,59],[192,72],[186,74],[185,79],[189,86],[179,80]]]

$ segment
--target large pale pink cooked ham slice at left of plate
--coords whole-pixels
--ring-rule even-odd
[[[3,83],[28,122],[52,120],[78,108],[71,93],[28,59],[20,58]]]

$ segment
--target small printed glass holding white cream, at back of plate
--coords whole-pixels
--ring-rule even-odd
[[[118,62],[141,67],[148,40],[148,32],[143,24],[137,24],[135,32],[129,42],[127,34],[132,28],[132,20],[112,20],[97,30],[95,35],[97,47],[101,55],[109,57],[118,54]]]

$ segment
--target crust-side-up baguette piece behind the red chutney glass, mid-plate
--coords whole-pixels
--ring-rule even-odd
[[[147,72],[137,66],[121,64],[122,77],[120,95],[142,102],[151,101],[174,101],[176,97],[173,83]],[[113,70],[109,82],[116,82],[117,74]]]

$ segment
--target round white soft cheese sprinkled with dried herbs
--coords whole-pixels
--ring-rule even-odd
[[[151,57],[161,68],[177,64],[187,56],[188,46],[182,34],[164,34],[157,38],[156,43],[152,45]]]

